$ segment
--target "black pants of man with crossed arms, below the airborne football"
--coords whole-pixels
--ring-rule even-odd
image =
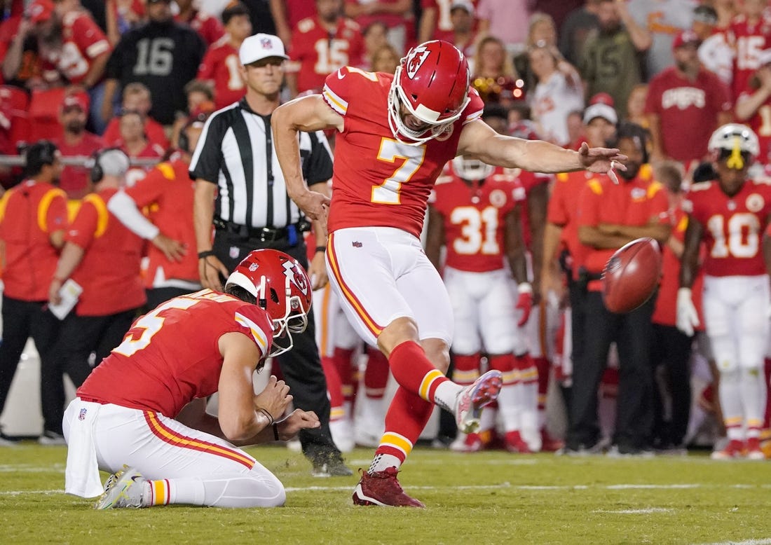
[[[567,446],[593,446],[600,438],[598,387],[608,363],[611,342],[618,346],[619,379],[613,442],[639,449],[647,446],[651,425],[651,315],[655,297],[625,315],[608,311],[599,291],[584,299],[583,353],[573,361],[571,425]]]

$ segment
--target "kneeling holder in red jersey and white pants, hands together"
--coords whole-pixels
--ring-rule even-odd
[[[311,283],[294,258],[252,251],[225,293],[197,291],[138,318],[77,391],[64,417],[65,491],[97,509],[183,503],[281,506],[281,482],[238,449],[318,428],[274,376],[254,395],[252,375],[305,330]],[[219,392],[219,413],[205,412]],[[123,471],[120,469],[123,467]],[[113,473],[104,491],[99,469]],[[117,473],[116,473],[117,472]]]

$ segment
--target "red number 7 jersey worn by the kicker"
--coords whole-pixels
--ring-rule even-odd
[[[445,134],[419,146],[399,143],[388,119],[392,80],[392,74],[351,66],[327,78],[322,96],[345,117],[345,130],[335,138],[330,232],[381,226],[419,237],[429,193],[456,155],[463,125],[482,115],[482,99],[470,89],[470,103]]]

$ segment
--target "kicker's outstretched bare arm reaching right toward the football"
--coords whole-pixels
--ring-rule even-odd
[[[613,168],[626,170],[623,161],[627,159],[616,149],[590,148],[586,143],[581,146],[581,150],[573,151],[543,140],[503,136],[481,120],[463,126],[458,154],[474,156],[490,165],[543,173],[573,170],[608,173]]]

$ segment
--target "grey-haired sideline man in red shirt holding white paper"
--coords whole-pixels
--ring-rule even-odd
[[[89,355],[96,352],[96,362],[101,362],[120,345],[146,301],[140,278],[143,240],[107,210],[107,201],[123,187],[128,170],[129,158],[120,150],[110,148],[96,156],[93,193],[83,199],[72,220],[50,281],[52,304],[61,301],[59,289],[68,278],[83,288],[54,348],[59,369],[76,386],[91,372]]]

